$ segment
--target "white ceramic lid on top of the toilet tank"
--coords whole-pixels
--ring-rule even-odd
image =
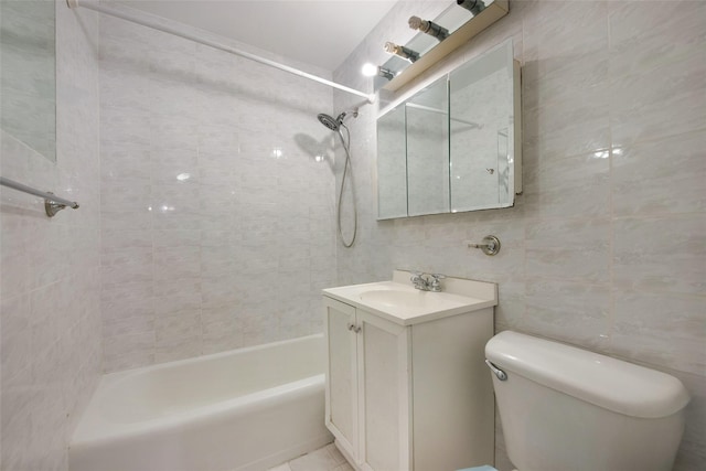
[[[599,407],[632,417],[657,418],[689,400],[674,376],[561,343],[505,331],[485,345],[485,357],[524,376]]]

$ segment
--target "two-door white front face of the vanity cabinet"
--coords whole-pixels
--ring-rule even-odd
[[[410,469],[403,433],[409,428],[409,332],[334,299],[325,298],[325,308],[327,426],[347,458],[367,464],[363,469]]]

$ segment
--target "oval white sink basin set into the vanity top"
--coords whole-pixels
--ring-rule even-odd
[[[400,289],[374,289],[363,291],[361,301],[370,304],[378,304],[385,308],[398,308],[410,310],[446,310],[461,307],[462,300],[453,295],[420,290]]]

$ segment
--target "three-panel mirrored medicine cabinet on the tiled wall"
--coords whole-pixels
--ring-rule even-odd
[[[513,206],[520,132],[509,40],[378,117],[378,220]]]

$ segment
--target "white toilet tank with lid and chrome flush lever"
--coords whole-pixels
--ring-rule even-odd
[[[491,373],[518,471],[672,469],[689,400],[677,378],[511,331],[485,357],[506,374]]]

